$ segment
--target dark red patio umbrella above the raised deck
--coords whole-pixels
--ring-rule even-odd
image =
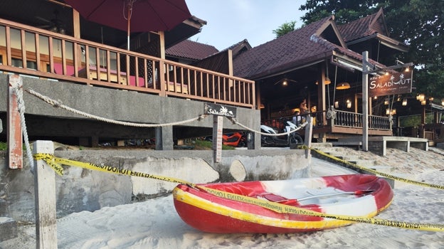
[[[169,31],[191,16],[185,0],[65,0],[88,21],[130,32]]]

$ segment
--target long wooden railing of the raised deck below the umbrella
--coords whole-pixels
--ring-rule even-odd
[[[0,70],[256,108],[255,83],[0,18]]]

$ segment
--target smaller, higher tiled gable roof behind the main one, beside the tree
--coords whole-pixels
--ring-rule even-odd
[[[342,34],[342,38],[344,38],[344,41],[346,42],[371,36],[374,33],[381,33],[381,35],[388,36],[384,26],[384,14],[382,9],[376,14],[359,18],[356,21],[340,25],[338,28]]]

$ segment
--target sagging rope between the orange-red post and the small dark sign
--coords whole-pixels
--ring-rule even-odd
[[[208,115],[199,115],[198,117],[193,117],[189,120],[184,120],[184,121],[179,121],[179,122],[170,122],[170,123],[165,123],[165,124],[141,124],[141,123],[133,123],[133,122],[123,122],[123,121],[117,121],[117,120],[111,120],[111,119],[107,119],[105,117],[99,117],[96,115],[90,115],[86,112],[82,112],[79,110],[75,110],[71,107],[68,107],[66,105],[63,105],[63,103],[60,100],[53,100],[51,99],[51,97],[47,97],[45,95],[41,95],[40,93],[32,90],[31,88],[25,89],[26,92],[28,92],[31,95],[34,95],[38,98],[40,98],[41,100],[47,102],[49,105],[52,105],[53,107],[59,107],[63,110],[67,110],[69,112],[74,112],[75,114],[78,115],[82,115],[85,117],[89,117],[91,119],[94,120],[99,120],[102,122],[109,122],[112,124],[121,124],[121,125],[126,125],[126,126],[132,126],[132,127],[168,127],[168,126],[174,126],[174,125],[180,125],[180,124],[186,124],[189,122],[194,122],[194,121],[201,121],[203,120],[204,117],[207,117]]]

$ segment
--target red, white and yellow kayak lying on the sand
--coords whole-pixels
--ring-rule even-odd
[[[179,184],[173,190],[173,198],[181,219],[203,232],[300,233],[354,222],[286,210],[304,208],[330,215],[371,218],[390,206],[393,190],[378,176],[347,174],[279,181]]]

